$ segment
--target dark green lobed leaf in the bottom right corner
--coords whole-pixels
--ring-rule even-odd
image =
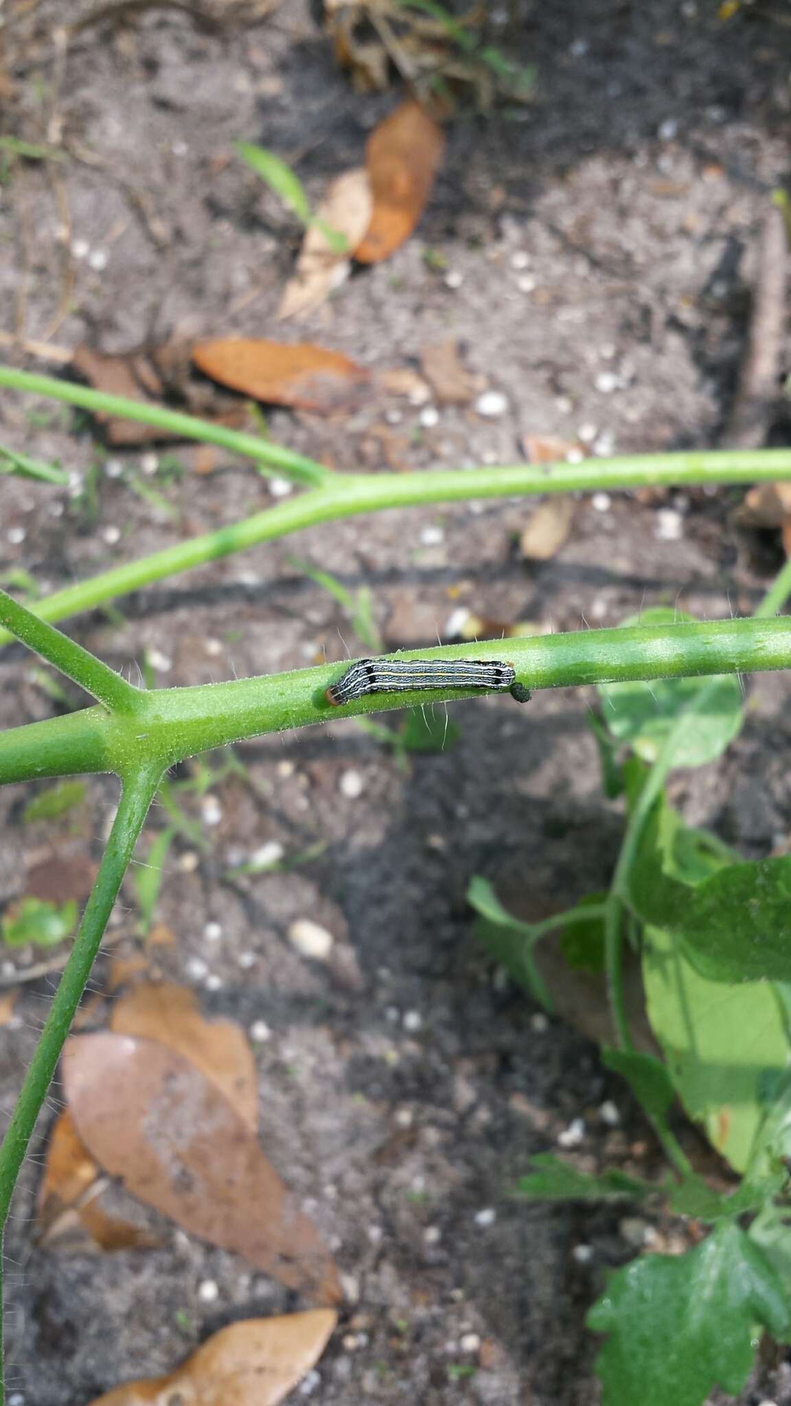
[[[609,1334],[597,1358],[602,1406],[701,1406],[715,1386],[742,1389],[754,1324],[781,1337],[788,1302],[760,1249],[726,1222],[687,1254],[619,1270],[587,1322]]]

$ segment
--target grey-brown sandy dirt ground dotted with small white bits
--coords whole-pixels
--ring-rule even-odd
[[[353,94],[296,0],[266,21],[211,30],[189,7],[115,7],[111,21],[82,30],[65,62],[48,25],[89,7],[21,8],[28,66],[4,131],[30,141],[58,131],[94,160],[15,165],[0,187],[3,329],[44,336],[66,287],[70,311],[55,335],[66,347],[277,335],[298,232],[229,156],[231,142],[258,141],[298,163],[315,197],[360,160],[396,90]],[[504,44],[536,65],[536,103],[460,111],[415,236],[298,332],[369,367],[414,364],[425,344],[456,337],[507,396],[504,413],[442,409],[424,426],[404,402],[329,420],[280,411],[273,436],[348,470],[383,464],[386,447],[404,468],[472,474],[524,457],[525,434],[581,433],[600,454],[716,443],[767,193],[788,179],[791,31],[781,0],[774,8],[723,24],[709,0],[526,7]],[[3,479],[0,572],[24,567],[45,591],[270,501],[249,464],[224,457],[197,477],[194,451],[179,447],[183,477],[151,479],[167,515],[114,477],[124,457],[145,481],[151,450],[97,453],[65,408],[11,395],[0,426],[13,447],[94,482],[91,499]],[[787,443],[787,426],[773,437]],[[321,650],[343,658],[345,645],[360,652],[294,554],[352,588],[369,583],[388,648],[431,644],[460,607],[555,630],[676,600],[701,616],[746,613],[778,558],[776,546],[759,555],[738,536],[739,498],[580,496],[571,537],[540,565],[515,547],[525,502],[383,513],[255,548],[120,600],[122,616],[69,628],[117,668],[149,651],[160,685],[294,668]],[[742,737],[722,765],[678,779],[674,799],[753,856],[791,831],[791,723],[787,681],[747,686]],[[55,707],[21,650],[0,655],[0,689],[6,725]],[[633,1254],[633,1216],[529,1206],[510,1188],[577,1118],[591,1167],[640,1153],[654,1166],[650,1130],[595,1047],[493,972],[464,903],[473,875],[536,917],[607,882],[621,820],[601,794],[591,702],[557,692],[521,710],[508,699],[457,704],[457,744],[412,758],[408,772],[352,723],[245,744],[255,790],[224,779],[210,848],[172,853],[158,910],[177,938],[169,974],[196,987],[207,1011],[258,1032],[263,1146],[345,1275],[343,1324],[294,1400],[598,1400],[583,1316],[605,1270]],[[113,796],[110,780],[91,782],[72,853],[99,856]],[[30,865],[59,838],[52,824],[23,828],[28,797],[28,787],[0,792],[0,901],[25,891]],[[149,834],[160,825],[155,810]],[[286,873],[224,877],[269,841],[287,858],[324,849]],[[132,943],[127,897],[111,932]],[[329,962],[289,943],[297,918],[332,932]],[[3,980],[21,960],[4,962]],[[97,988],[106,974],[103,957]],[[27,983],[0,1029],[3,1109],[49,987]],[[601,1112],[608,1101],[616,1126]],[[300,1306],[242,1258],[165,1222],[153,1251],[37,1247],[38,1164],[58,1107],[55,1085],[7,1240],[10,1400],[87,1406],[118,1382],[170,1369],[235,1317]],[[456,1371],[466,1367],[476,1369]],[[791,1403],[791,1362],[763,1362],[740,1400]]]

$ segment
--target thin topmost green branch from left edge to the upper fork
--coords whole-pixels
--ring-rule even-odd
[[[281,444],[272,444],[256,434],[229,430],[224,425],[211,425],[208,420],[184,415],[182,411],[166,409],[163,405],[129,401],[124,395],[107,395],[104,391],[93,391],[87,385],[62,381],[55,375],[35,375],[32,371],[17,371],[8,366],[0,367],[0,385],[13,391],[31,391],[55,401],[66,401],[69,405],[82,406],[94,415],[120,415],[125,420],[141,420],[144,425],[153,425],[156,429],[182,439],[218,444],[220,449],[243,454],[259,464],[267,464],[297,484],[322,484],[332,477],[332,470],[324,464],[318,464],[317,460],[307,458],[304,454],[297,454],[294,450],[283,449]]]

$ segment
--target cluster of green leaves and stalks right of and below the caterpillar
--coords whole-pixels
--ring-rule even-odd
[[[515,921],[484,879],[469,897],[484,945],[548,1010],[538,942],[555,936],[570,967],[607,976],[615,1045],[602,1059],[631,1085],[670,1171],[659,1182],[619,1170],[591,1177],[542,1154],[517,1191],[538,1201],[647,1199],[712,1226],[685,1254],[649,1254],[619,1270],[588,1315],[608,1334],[597,1361],[605,1406],[666,1406],[669,1361],[674,1403],[701,1406],[716,1385],[742,1389],[756,1324],[791,1340],[791,856],[745,862],[667,800],[671,768],[715,761],[739,733],[743,696],[732,675],[605,683],[600,700],[605,792],[625,807],[609,891],[540,924]],[[632,1042],[629,960],[642,966],[663,1059]],[[694,1171],[670,1125],[676,1102],[740,1177],[735,1189],[712,1191]]]

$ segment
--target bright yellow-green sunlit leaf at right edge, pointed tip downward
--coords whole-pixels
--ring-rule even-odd
[[[688,890],[690,891],[690,890]],[[785,1017],[766,981],[723,986],[701,976],[673,934],[645,934],[643,984],[652,1029],[691,1118],[736,1171],[788,1066]]]

